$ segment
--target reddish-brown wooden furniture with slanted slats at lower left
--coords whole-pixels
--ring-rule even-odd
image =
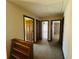
[[[10,59],[33,59],[33,43],[12,39]]]

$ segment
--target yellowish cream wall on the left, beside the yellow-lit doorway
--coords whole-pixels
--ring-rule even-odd
[[[24,9],[14,5],[13,3],[6,2],[6,43],[7,43],[7,59],[10,55],[10,46],[12,38],[24,39],[23,29],[23,15],[36,18],[34,15],[25,11]]]

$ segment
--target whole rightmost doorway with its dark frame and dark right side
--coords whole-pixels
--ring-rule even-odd
[[[51,40],[62,47],[64,18],[51,21]]]

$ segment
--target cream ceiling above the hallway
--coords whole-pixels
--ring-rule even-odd
[[[64,13],[68,0],[9,0],[38,17]]]

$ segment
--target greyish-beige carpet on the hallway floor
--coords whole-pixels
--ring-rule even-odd
[[[33,45],[34,59],[63,59],[62,50],[55,42],[42,40]]]

